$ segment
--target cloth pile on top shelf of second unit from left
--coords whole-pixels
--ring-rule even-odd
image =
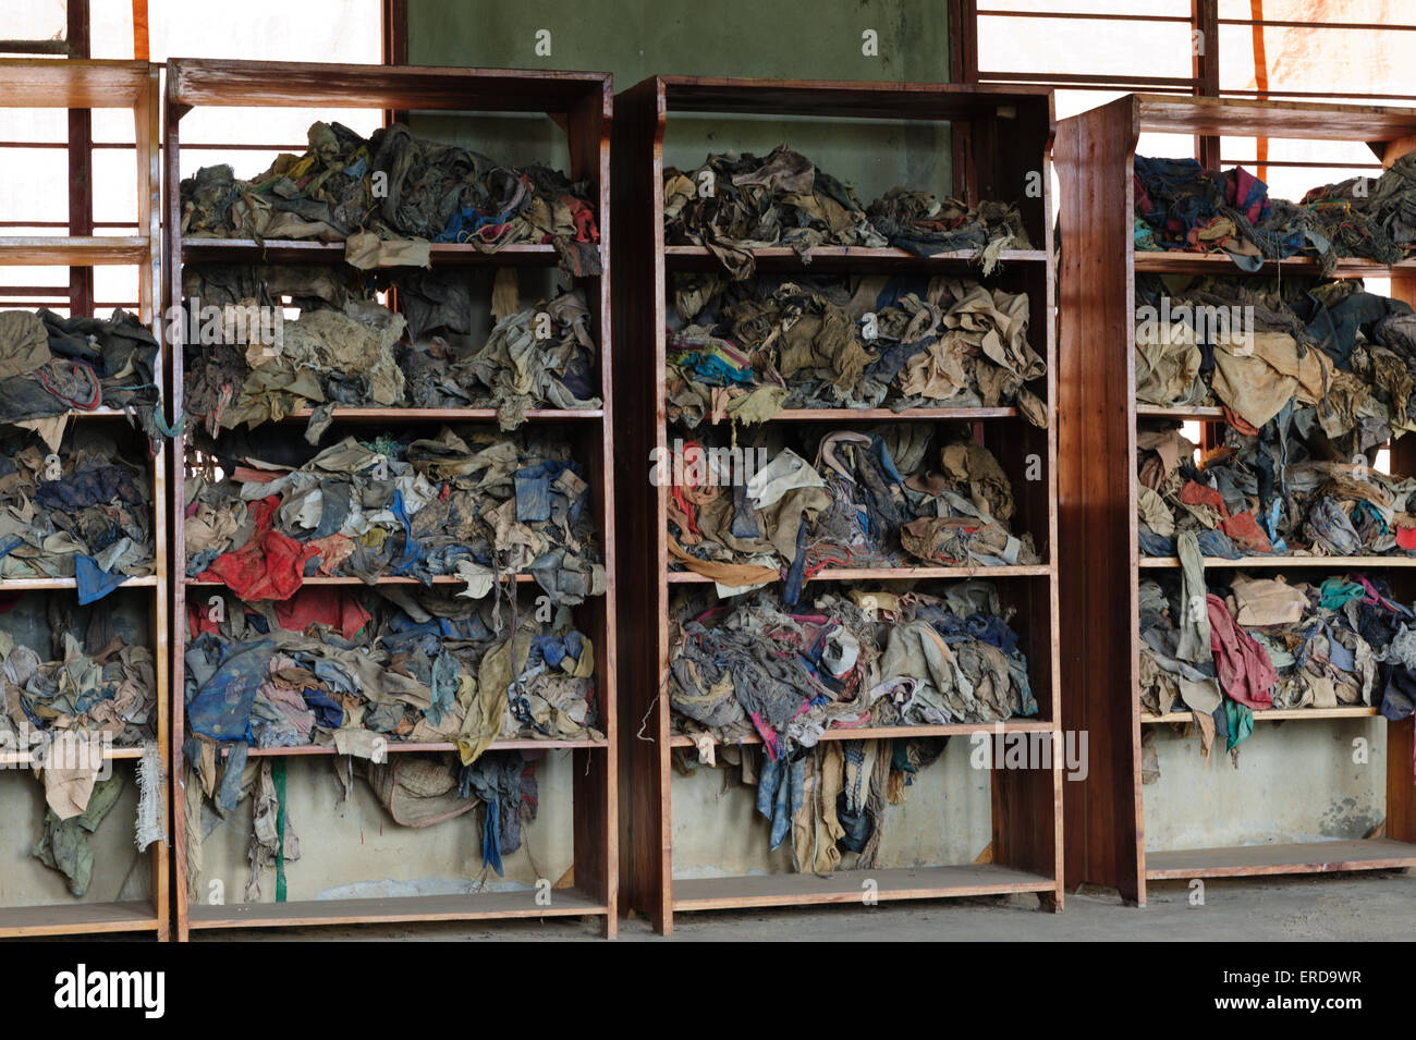
[[[187,238],[344,242],[355,267],[429,266],[430,242],[494,253],[551,243],[571,275],[599,275],[592,188],[544,166],[515,168],[402,125],[367,140],[313,123],[303,156],[282,153],[251,180],[210,166],[181,181]]]

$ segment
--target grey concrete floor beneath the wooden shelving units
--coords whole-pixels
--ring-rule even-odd
[[[885,903],[874,908],[823,907],[683,914],[671,941],[755,940],[990,940],[1310,942],[1416,938],[1416,874],[1389,872],[1272,882],[1211,880],[1205,904],[1189,906],[1185,883],[1153,884],[1144,910],[1106,890],[1068,896],[1066,913],[1044,914],[1037,899],[994,897]],[[360,925],[194,932],[195,941],[595,941],[586,921]],[[620,921],[620,940],[661,941],[644,921]]]

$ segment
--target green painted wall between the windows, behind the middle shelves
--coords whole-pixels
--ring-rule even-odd
[[[537,54],[549,33],[549,55]],[[878,54],[862,52],[867,30]],[[544,37],[542,37],[544,40]],[[544,45],[542,45],[544,50]],[[651,75],[946,81],[943,0],[408,0],[408,61],[607,71],[623,91]],[[415,119],[421,133],[511,163],[565,164],[548,120]],[[530,122],[530,126],[527,125]],[[680,116],[666,163],[692,168],[708,151],[766,154],[787,143],[869,202],[895,184],[950,190],[947,125]]]

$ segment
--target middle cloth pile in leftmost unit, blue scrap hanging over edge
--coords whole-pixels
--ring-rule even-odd
[[[152,480],[123,449],[92,430],[58,451],[0,437],[0,580],[72,577],[82,606],[153,573]]]

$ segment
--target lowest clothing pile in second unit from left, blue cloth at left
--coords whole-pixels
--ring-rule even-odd
[[[224,808],[249,747],[382,760],[396,741],[450,743],[472,763],[498,739],[602,739],[595,649],[568,608],[542,623],[531,607],[401,586],[219,604],[188,610],[184,754]]]

